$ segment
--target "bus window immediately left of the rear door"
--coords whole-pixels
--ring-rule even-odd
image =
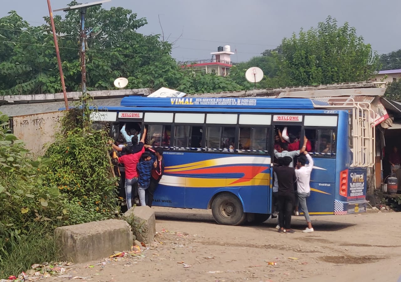
[[[240,127],[239,144],[240,153],[246,153],[247,150],[256,150],[257,153],[268,153],[267,140],[269,140],[269,130],[266,127]]]

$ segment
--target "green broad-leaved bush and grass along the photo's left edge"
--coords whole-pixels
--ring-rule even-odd
[[[41,257],[54,258],[53,229],[61,224],[63,197],[43,185],[49,159],[32,159],[24,143],[8,134],[0,114],[0,277],[26,270]]]

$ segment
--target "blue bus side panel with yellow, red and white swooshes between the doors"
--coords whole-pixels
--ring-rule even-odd
[[[269,212],[270,157],[195,152],[165,152],[163,156],[166,167],[159,187],[176,189],[158,188],[156,206],[174,206],[173,202],[182,202],[183,195],[185,208],[205,209],[215,194],[226,191],[241,200],[245,212]],[[177,189],[185,190],[184,194]],[[171,203],[158,202],[176,196],[179,200]]]

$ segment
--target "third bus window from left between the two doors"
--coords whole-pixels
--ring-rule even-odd
[[[206,147],[209,151],[234,152],[235,127],[209,126]]]

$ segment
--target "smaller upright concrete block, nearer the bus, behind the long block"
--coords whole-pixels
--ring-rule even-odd
[[[125,212],[136,240],[145,244],[152,243],[156,235],[156,218],[154,211],[148,206],[135,206]]]

